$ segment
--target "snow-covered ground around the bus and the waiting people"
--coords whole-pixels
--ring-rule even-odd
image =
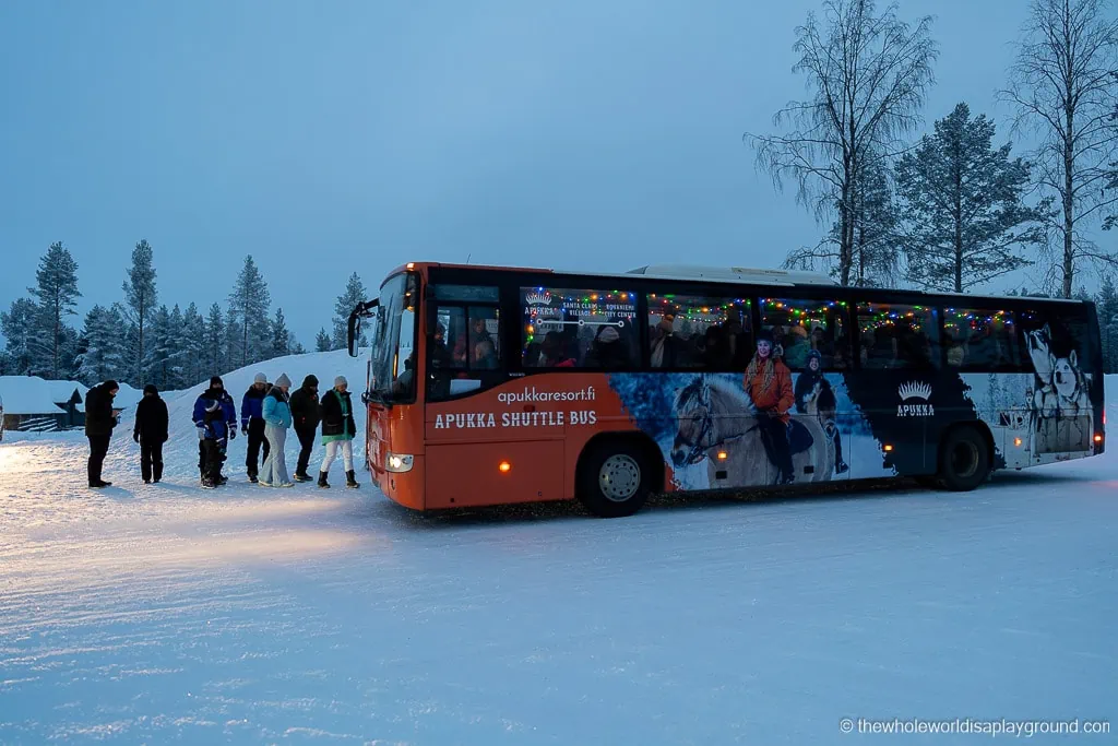
[[[363,381],[343,353],[301,357],[266,370]],[[250,378],[226,377],[238,404]],[[1118,726],[1114,450],[968,494],[420,518],[368,483],[244,483],[241,438],[235,480],[199,490],[192,397],[169,397],[165,484],[139,483],[127,422],[103,492],[84,488],[80,434],[0,445],[0,743],[930,744],[984,736],[840,721]]]

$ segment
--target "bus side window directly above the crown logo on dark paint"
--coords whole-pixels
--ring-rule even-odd
[[[869,370],[939,367],[936,310],[927,305],[859,303],[860,362]]]

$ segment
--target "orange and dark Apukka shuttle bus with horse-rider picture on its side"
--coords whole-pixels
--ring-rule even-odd
[[[1089,302],[803,272],[408,264],[371,320],[367,461],[416,510],[922,476],[1102,453]]]

